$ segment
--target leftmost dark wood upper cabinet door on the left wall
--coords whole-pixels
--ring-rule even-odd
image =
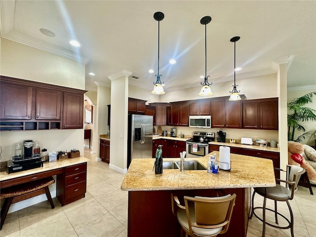
[[[32,86],[1,82],[1,119],[31,119]]]

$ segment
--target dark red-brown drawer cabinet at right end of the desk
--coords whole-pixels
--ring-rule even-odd
[[[85,196],[87,163],[65,168],[63,174],[57,175],[56,197],[62,206]]]

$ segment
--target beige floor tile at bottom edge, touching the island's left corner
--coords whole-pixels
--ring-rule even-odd
[[[107,213],[77,230],[79,237],[116,237],[126,228],[111,214]]]

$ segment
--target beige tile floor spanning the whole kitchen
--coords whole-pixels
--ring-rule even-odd
[[[55,197],[54,209],[44,201],[9,213],[0,237],[127,237],[127,192],[120,190],[124,175],[110,170],[103,161],[95,161],[96,154],[91,155],[89,150],[84,156],[90,159],[85,198],[62,207]],[[316,236],[316,187],[313,191],[315,196],[299,186],[291,201],[295,237]],[[263,199],[256,197],[255,203],[261,204]],[[284,207],[279,205],[279,210]],[[261,237],[261,232],[262,223],[253,217],[247,237]],[[266,237],[290,236],[289,230],[266,227]]]

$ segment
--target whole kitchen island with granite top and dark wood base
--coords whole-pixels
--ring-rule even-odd
[[[195,160],[206,167],[206,157],[185,160]],[[163,158],[163,161],[179,161],[179,158]],[[273,163],[270,159],[236,154],[231,154],[231,162],[231,171],[220,170],[217,174],[209,174],[206,170],[164,169],[162,174],[155,175],[154,159],[133,159],[121,184],[121,190],[129,191],[128,237],[180,236],[181,227],[171,211],[171,193],[178,197],[235,193],[230,228],[222,236],[245,237],[250,188],[276,185]]]

